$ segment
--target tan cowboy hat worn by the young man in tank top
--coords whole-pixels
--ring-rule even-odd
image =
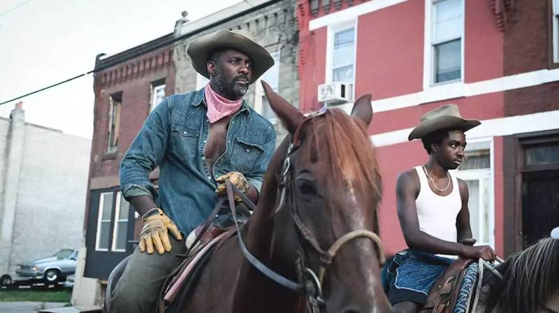
[[[421,123],[409,133],[407,140],[421,139],[433,131],[440,129],[460,129],[468,131],[478,126],[481,122],[475,119],[463,119],[460,116],[458,105],[447,104],[435,110],[426,112],[421,117]]]

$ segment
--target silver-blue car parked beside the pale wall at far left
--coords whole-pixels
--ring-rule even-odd
[[[43,279],[45,282],[64,282],[75,272],[78,250],[60,249],[47,258],[17,264],[15,273],[24,279]]]

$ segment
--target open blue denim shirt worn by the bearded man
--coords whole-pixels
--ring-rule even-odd
[[[242,101],[229,122],[226,151],[208,168],[204,150],[210,122],[203,101],[203,89],[164,99],[147,117],[120,165],[124,198],[153,196],[183,233],[201,224],[217,203],[214,177],[237,171],[260,191],[275,149],[272,124]],[[159,190],[149,179],[157,166]]]

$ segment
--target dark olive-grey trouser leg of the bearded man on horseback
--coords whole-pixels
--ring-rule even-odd
[[[173,249],[163,255],[157,251],[147,254],[136,248],[111,295],[111,313],[155,312],[159,291],[180,261],[175,254],[187,252],[184,239],[179,242],[170,234],[169,238]]]

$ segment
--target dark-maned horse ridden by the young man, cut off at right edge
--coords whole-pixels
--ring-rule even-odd
[[[542,239],[497,270],[502,278],[484,271],[479,305],[470,312],[559,312],[559,240]]]

